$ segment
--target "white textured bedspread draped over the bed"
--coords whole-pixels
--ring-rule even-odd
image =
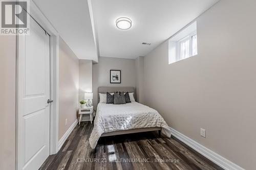
[[[102,133],[153,127],[161,127],[162,133],[170,137],[168,125],[155,109],[137,102],[124,105],[99,103],[89,142],[94,149]]]

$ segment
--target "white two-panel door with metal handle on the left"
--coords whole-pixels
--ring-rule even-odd
[[[18,170],[35,170],[50,150],[50,36],[30,17],[18,36]]]

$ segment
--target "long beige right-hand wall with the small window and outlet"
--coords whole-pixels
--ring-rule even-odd
[[[195,57],[168,65],[165,41],[144,58],[145,103],[170,127],[246,169],[256,167],[255,7],[222,0],[197,18]]]

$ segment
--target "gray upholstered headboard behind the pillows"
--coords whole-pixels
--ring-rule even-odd
[[[115,91],[134,92],[134,98],[135,98],[134,87],[98,87],[98,103],[99,103],[99,93],[115,92]]]

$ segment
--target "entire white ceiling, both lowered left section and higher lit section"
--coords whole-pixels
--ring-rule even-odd
[[[219,0],[33,1],[79,59],[98,62],[145,56]],[[132,28],[117,29],[118,17],[132,19]]]

